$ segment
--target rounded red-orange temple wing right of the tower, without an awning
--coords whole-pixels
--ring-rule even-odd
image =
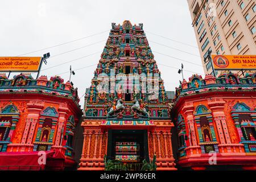
[[[179,140],[177,166],[256,169],[255,98],[256,73],[183,80],[171,112]]]

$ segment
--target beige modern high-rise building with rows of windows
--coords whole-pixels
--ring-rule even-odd
[[[209,51],[215,55],[255,55],[255,0],[187,1],[205,73],[213,74],[210,61],[205,61]]]

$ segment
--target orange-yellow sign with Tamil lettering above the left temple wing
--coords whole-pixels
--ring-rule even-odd
[[[37,72],[42,57],[0,57],[0,72]]]

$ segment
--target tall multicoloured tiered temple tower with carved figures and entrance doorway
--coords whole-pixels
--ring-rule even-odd
[[[170,110],[143,24],[112,23],[86,95],[79,170],[104,170],[104,157],[136,166],[156,155],[158,170],[176,170]]]

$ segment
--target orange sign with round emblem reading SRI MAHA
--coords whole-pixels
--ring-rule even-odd
[[[256,55],[212,55],[216,70],[256,69]]]

